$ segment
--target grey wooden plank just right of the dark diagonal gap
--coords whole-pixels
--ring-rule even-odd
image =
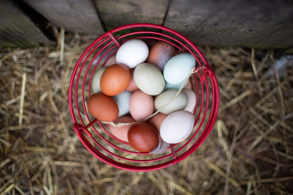
[[[57,27],[101,35],[103,27],[92,0],[24,0]]]

